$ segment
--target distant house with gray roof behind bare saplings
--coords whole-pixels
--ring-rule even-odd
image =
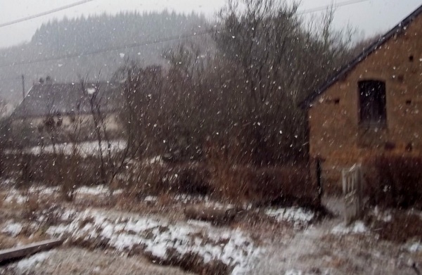
[[[120,99],[117,86],[105,82],[87,83],[84,87],[80,83],[35,84],[12,113],[11,129],[14,135],[24,135],[37,143],[40,139],[48,142],[46,137],[52,128],[58,141],[67,141],[70,134],[79,140],[95,139],[92,110],[98,112],[99,108],[107,131],[118,134],[122,132],[118,122]]]

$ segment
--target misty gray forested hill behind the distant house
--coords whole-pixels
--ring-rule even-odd
[[[164,64],[162,53],[181,43],[173,37],[203,32],[206,27],[203,15],[168,11],[51,21],[41,25],[29,43],[0,49],[0,98],[13,104],[22,100],[22,75],[28,91],[47,75],[56,82],[77,82],[79,76],[94,81],[100,72],[101,79],[110,79],[127,60]],[[156,43],[166,39],[170,41]],[[131,44],[149,45],[122,48]],[[107,49],[115,50],[103,52]],[[45,59],[49,61],[36,62]]]

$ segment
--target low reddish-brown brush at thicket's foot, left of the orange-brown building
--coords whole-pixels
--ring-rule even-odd
[[[215,172],[215,190],[234,203],[316,205],[317,190],[305,165],[224,167]]]

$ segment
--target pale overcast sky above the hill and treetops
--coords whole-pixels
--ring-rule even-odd
[[[0,25],[11,20],[59,8],[79,0],[0,0]],[[292,1],[292,0],[286,0]],[[300,10],[308,10],[345,0],[302,0]],[[44,22],[53,18],[78,17],[95,13],[118,13],[120,11],[177,11],[190,13],[196,11],[212,18],[226,0],[94,0],[65,11],[52,13],[23,23],[0,27],[0,47],[12,46],[30,41],[32,34]],[[346,25],[356,27],[359,34],[366,37],[376,32],[385,32],[409,13],[422,5],[422,0],[367,0],[343,6],[335,11],[335,27]],[[318,15],[318,13],[309,13]]]

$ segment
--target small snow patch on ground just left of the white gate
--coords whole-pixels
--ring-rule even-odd
[[[295,226],[306,226],[315,217],[314,212],[300,207],[267,209],[265,214],[273,217],[278,222],[290,222]]]

